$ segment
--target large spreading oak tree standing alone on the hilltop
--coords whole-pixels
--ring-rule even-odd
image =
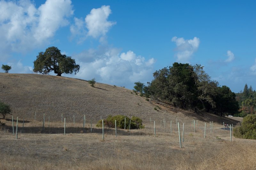
[[[57,76],[61,76],[62,73],[76,74],[79,72],[79,65],[76,65],[75,59],[72,59],[65,54],[61,54],[57,47],[49,47],[44,52],[39,52],[34,61],[35,73],[48,74],[50,71],[54,71]]]

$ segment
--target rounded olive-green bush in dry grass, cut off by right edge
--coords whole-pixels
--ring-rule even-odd
[[[248,114],[245,116],[241,126],[234,128],[234,136],[244,139],[256,139],[256,115]]]

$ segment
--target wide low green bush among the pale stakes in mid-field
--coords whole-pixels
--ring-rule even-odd
[[[125,128],[129,128],[130,118],[124,115],[116,115],[112,116],[109,115],[107,119],[103,120],[104,126],[109,128],[115,128],[115,120],[116,120],[116,127],[120,129],[124,129],[124,118],[125,120]],[[102,120],[99,120],[96,127],[102,127]],[[131,129],[142,129],[144,125],[142,125],[142,120],[136,116],[132,116],[131,119]]]

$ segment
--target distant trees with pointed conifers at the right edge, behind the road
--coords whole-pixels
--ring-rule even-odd
[[[239,104],[239,114],[236,116],[244,117],[248,114],[256,113],[256,92],[252,89],[252,86],[248,88],[248,85],[244,85],[244,90],[240,93],[236,93],[236,100]]]

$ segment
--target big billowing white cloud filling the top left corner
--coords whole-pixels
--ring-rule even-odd
[[[0,58],[47,43],[72,14],[71,0],[47,0],[39,8],[29,0],[0,1]]]

